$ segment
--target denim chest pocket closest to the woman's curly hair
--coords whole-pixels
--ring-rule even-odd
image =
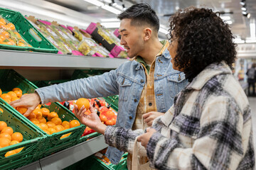
[[[167,77],[171,97],[175,97],[187,84],[185,74],[171,74]]]

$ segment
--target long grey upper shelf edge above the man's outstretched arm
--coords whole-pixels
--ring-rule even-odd
[[[4,69],[115,69],[126,59],[0,50]]]

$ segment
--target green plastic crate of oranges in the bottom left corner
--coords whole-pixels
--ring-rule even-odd
[[[0,111],[0,121],[6,122],[7,126],[11,127],[14,132],[21,132],[23,135],[23,142],[0,149],[0,169],[17,169],[38,160],[40,153],[43,152],[42,146],[43,142],[46,141],[46,136],[8,106],[0,103],[0,108],[4,111],[3,113]],[[21,147],[24,147],[21,152],[4,157],[6,152]]]

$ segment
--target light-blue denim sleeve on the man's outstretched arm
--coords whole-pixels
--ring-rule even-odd
[[[36,89],[41,103],[70,101],[78,98],[105,97],[118,94],[117,69],[100,76],[76,79]]]

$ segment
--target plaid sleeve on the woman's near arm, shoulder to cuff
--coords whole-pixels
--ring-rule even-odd
[[[151,166],[155,169],[237,169],[244,155],[254,158],[250,150],[252,123],[250,116],[243,115],[245,112],[230,98],[215,98],[202,110],[200,131],[191,147],[181,144],[181,137],[186,136],[175,130],[171,130],[169,138],[155,132],[146,147]],[[250,109],[245,114],[250,115]]]

